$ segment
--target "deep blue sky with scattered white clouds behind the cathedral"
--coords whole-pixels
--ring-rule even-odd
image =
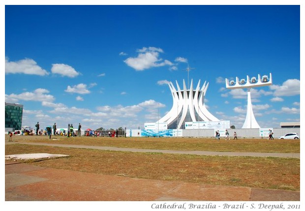
[[[5,102],[23,126],[144,129],[172,108],[168,82],[209,82],[205,104],[241,128],[300,121],[300,5],[5,5]],[[175,85],[176,87],[176,85]]]

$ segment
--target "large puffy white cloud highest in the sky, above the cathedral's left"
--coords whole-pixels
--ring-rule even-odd
[[[135,70],[141,71],[149,69],[151,67],[160,67],[165,65],[173,65],[169,60],[164,60],[159,58],[159,53],[163,53],[163,50],[160,48],[149,47],[142,48],[137,50],[139,52],[136,58],[129,57],[124,60],[124,62],[134,68]]]

